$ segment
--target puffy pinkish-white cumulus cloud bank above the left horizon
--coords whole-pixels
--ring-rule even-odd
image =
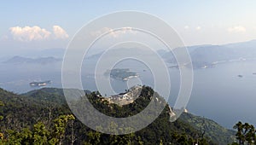
[[[39,26],[15,26],[10,27],[9,31],[15,40],[22,42],[68,38],[67,32],[65,32],[61,26],[53,26],[53,34]]]

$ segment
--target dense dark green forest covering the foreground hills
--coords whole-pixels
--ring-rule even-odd
[[[87,97],[100,112],[125,117],[147,107],[154,90],[143,86],[141,96],[124,106],[102,102],[98,92],[85,93],[79,102]],[[70,111],[61,89],[44,88],[23,95],[0,89],[0,100],[1,144],[228,144],[238,140],[235,131],[191,113],[183,113],[177,121],[170,122],[168,105],[143,130],[117,136],[83,125]],[[163,98],[161,101],[165,102]],[[111,127],[119,130],[114,122]]]

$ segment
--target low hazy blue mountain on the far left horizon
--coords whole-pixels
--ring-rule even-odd
[[[24,64],[24,63],[35,63],[35,64],[49,64],[61,61],[61,59],[49,56],[49,57],[38,57],[38,58],[27,58],[22,56],[14,56],[7,61],[3,61],[6,64]]]

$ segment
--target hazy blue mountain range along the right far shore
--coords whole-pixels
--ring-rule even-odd
[[[187,49],[194,68],[213,67],[218,63],[230,61],[256,59],[256,40],[236,44],[189,46]],[[160,49],[158,53],[167,62],[176,63],[171,51]]]

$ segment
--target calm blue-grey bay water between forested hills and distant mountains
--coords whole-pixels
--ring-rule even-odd
[[[96,90],[95,65],[88,62],[84,66],[81,76],[84,90]],[[127,82],[111,79],[116,93],[124,92],[132,84],[141,82],[154,87],[153,74],[142,63],[126,61],[116,67],[130,68],[140,76],[140,79],[131,78]],[[172,83],[169,103],[172,106],[179,88],[179,71],[176,68],[169,68],[169,71]],[[236,61],[207,69],[195,69],[194,86],[187,106],[189,112],[213,119],[228,128],[238,120],[256,125],[256,75],[253,73],[256,73],[256,61]],[[53,83],[48,87],[61,88],[61,62],[49,65],[0,64],[0,87],[5,90],[24,93],[39,89],[29,86],[34,80],[52,80]]]

